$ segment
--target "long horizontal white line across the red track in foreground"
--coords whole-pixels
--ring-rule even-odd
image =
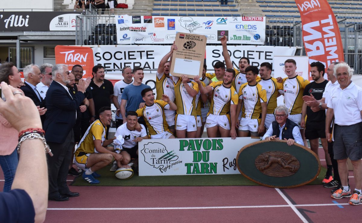
[[[284,195],[284,194],[283,194]],[[302,204],[292,205],[294,207],[311,207],[311,206],[336,206],[336,205],[349,205],[344,204]],[[187,210],[187,209],[241,209],[241,208],[262,208],[262,207],[290,207],[290,205],[260,205],[260,206],[214,206],[214,207],[90,207],[90,208],[48,208],[47,210]]]

